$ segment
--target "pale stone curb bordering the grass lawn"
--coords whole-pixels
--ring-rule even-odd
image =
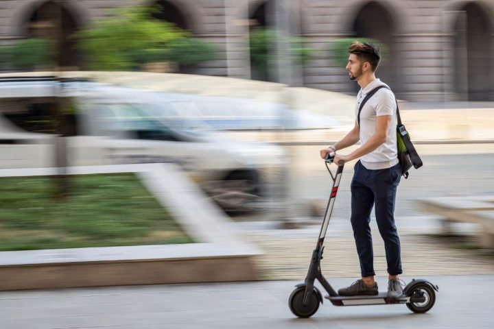
[[[122,164],[67,171],[71,175],[137,173],[198,243],[0,252],[0,291],[258,280],[252,258],[259,252],[226,225],[222,210],[176,165]],[[0,170],[0,177],[53,174],[54,168]]]

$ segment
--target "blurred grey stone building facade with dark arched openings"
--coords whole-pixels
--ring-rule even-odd
[[[67,36],[111,15],[108,9],[154,3],[161,5],[159,19],[220,47],[221,59],[201,64],[197,74],[250,78],[252,26],[285,20],[315,50],[299,85],[353,93],[329,44],[368,37],[386,45],[388,60],[377,75],[401,99],[494,101],[494,0],[2,0],[0,42],[56,33],[58,15],[62,62],[77,69],[81,59]]]

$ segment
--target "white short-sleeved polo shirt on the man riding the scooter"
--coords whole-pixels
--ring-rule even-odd
[[[360,103],[364,100],[366,95],[376,88],[377,86],[387,86],[381,80],[376,79],[366,88],[360,89],[357,94],[357,104],[355,105],[355,118],[357,117]],[[397,104],[395,95],[391,90],[381,88],[364,104],[362,112],[360,112],[360,143],[366,143],[373,134],[375,134],[375,123],[377,117],[381,115],[391,115],[391,124],[386,136],[386,142],[380,145],[369,154],[362,156],[360,162],[366,167],[366,169],[386,169],[395,166],[398,163],[397,153]]]

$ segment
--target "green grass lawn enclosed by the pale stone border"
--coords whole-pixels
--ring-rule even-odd
[[[132,173],[0,178],[0,251],[192,243]]]

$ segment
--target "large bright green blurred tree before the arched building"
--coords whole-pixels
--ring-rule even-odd
[[[189,38],[188,32],[172,23],[154,19],[152,10],[142,6],[120,9],[117,16],[100,19],[75,34],[88,68],[123,71],[148,62],[197,64],[215,58],[212,45]]]

